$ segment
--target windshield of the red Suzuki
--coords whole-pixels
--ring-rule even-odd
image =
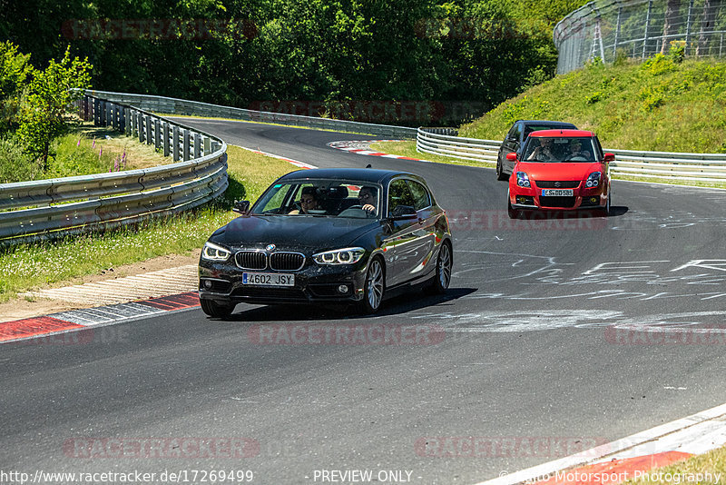
[[[525,146],[524,162],[561,163],[596,162],[593,139],[588,136],[530,136]]]

